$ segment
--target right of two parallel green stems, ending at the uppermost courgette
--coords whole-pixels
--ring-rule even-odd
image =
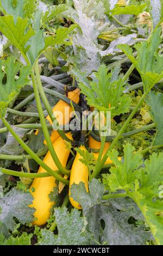
[[[48,102],[47,97],[45,95],[45,92],[43,90],[42,83],[41,83],[41,80],[40,80],[40,71],[39,71],[39,64],[38,63],[36,63],[36,65],[35,65],[35,74],[36,74],[36,81],[37,81],[37,86],[39,88],[39,92],[40,92],[40,95],[41,95],[41,99],[42,99],[43,104],[45,105],[45,107],[47,109],[49,117],[52,120],[52,123],[54,123],[54,121],[57,121],[57,119],[54,116],[52,108],[49,105],[49,102]],[[57,121],[57,126],[59,127],[58,121]],[[60,137],[62,139],[65,139],[65,141],[68,141],[68,142],[71,141],[70,139],[67,138],[67,136],[65,135],[64,131],[61,131],[61,130],[58,129],[57,132],[59,133],[59,135],[60,135]]]

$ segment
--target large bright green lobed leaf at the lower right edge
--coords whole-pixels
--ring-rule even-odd
[[[124,163],[117,162],[117,155],[116,150],[109,154],[115,167],[109,169],[110,174],[103,174],[106,188],[126,191],[142,211],[156,243],[163,245],[163,153],[153,153],[143,167],[140,153],[134,154],[130,144],[124,145]]]

